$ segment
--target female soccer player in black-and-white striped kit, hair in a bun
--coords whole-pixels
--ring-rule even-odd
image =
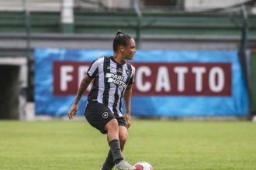
[[[85,117],[94,128],[107,134],[110,150],[102,170],[111,170],[114,165],[118,169],[136,169],[124,161],[121,154],[127,139],[127,128],[131,124],[130,100],[135,73],[135,68],[126,60],[133,59],[135,53],[134,39],[123,32],[117,32],[113,41],[113,56],[105,56],[92,63],[68,111],[68,117],[72,119],[82,94],[94,79],[88,94]],[[125,114],[121,111],[122,99],[126,105]]]

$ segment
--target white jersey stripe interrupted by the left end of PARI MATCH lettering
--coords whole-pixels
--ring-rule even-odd
[[[111,59],[110,59],[110,73],[116,74],[116,63],[112,62]],[[115,92],[116,92],[116,85],[114,83],[110,83],[108,107],[112,112],[113,112],[113,104],[115,102]]]

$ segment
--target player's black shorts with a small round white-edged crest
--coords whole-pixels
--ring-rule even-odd
[[[87,104],[85,108],[85,117],[88,123],[101,131],[102,134],[107,133],[105,126],[114,118],[116,118],[119,126],[127,127],[124,117],[116,116],[109,110],[109,107],[96,101]]]

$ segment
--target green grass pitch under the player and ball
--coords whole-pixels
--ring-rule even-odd
[[[256,169],[251,122],[133,121],[123,154],[155,170]],[[0,169],[99,170],[106,136],[86,121],[0,121]]]

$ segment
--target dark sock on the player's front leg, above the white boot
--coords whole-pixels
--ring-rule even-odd
[[[112,152],[113,162],[118,164],[119,162],[123,161],[119,140],[113,139],[112,141],[109,141],[109,147]]]

